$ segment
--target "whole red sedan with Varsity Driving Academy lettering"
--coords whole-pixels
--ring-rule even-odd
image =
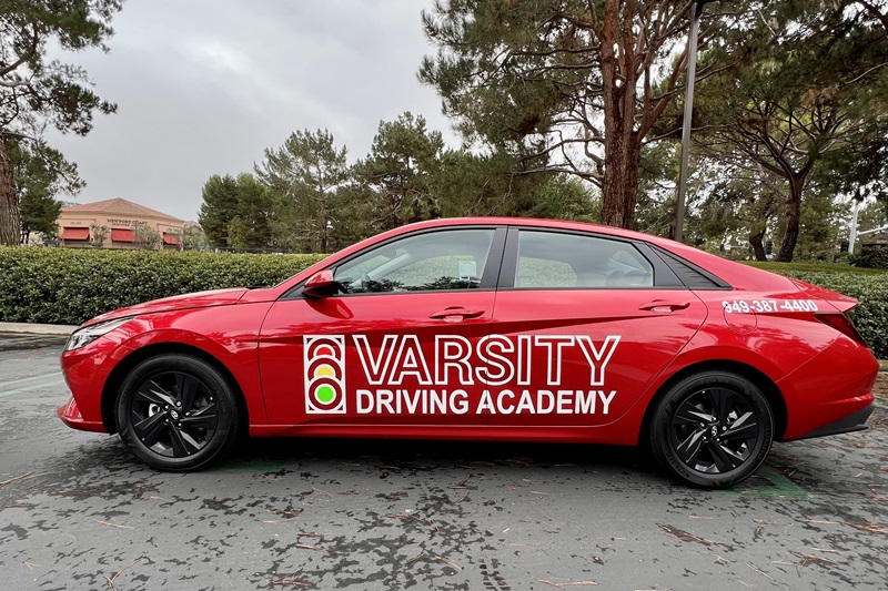
[[[160,470],[240,436],[639,446],[703,488],[774,441],[865,429],[878,363],[857,300],[647,234],[445,218],[274,287],[98,316],[68,340],[68,426]]]

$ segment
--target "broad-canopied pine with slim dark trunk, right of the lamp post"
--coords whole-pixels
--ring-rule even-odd
[[[745,160],[784,181],[777,259],[788,262],[811,179],[841,162],[879,160],[888,133],[888,37],[852,0],[753,4],[705,58],[724,69],[699,86],[707,126],[696,137],[717,157]],[[848,166],[857,182],[884,170]]]

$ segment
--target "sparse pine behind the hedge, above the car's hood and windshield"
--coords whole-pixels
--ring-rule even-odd
[[[256,177],[283,198],[301,226],[291,232],[304,235],[312,252],[330,252],[336,191],[349,180],[345,155],[345,146],[337,149],[327,130],[305,130],[291,133],[278,150],[266,149],[265,160],[254,166]]]

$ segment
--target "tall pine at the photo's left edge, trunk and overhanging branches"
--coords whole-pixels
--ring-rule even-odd
[[[121,6],[122,0],[0,1],[0,244],[20,240],[7,140],[39,137],[47,125],[84,135],[93,113],[117,110],[91,90],[82,68],[48,60],[47,48],[107,50]]]

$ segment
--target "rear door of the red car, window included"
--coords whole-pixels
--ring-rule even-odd
[[[506,357],[515,370],[482,393],[491,425],[613,422],[706,314],[644,245],[509,228],[490,338],[514,343]]]

